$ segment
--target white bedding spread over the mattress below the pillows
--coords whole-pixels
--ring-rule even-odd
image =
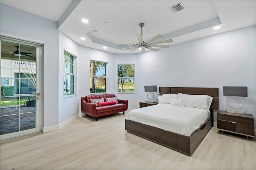
[[[130,111],[128,120],[189,137],[209,116],[204,109],[157,104]]]

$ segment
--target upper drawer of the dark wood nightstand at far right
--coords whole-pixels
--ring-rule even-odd
[[[247,125],[254,125],[254,119],[250,117],[241,117],[239,115],[236,116],[236,115],[218,114],[217,119],[233,121],[236,123],[244,123]]]

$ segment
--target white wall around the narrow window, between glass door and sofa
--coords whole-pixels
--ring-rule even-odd
[[[78,61],[80,59],[79,55],[79,45],[76,44],[74,41],[72,41],[69,37],[67,37],[64,33],[60,31],[60,41],[59,41],[59,90],[58,90],[58,95],[59,95],[59,102],[58,102],[58,107],[59,107],[59,119],[58,123],[62,123],[69,119],[70,117],[76,115],[79,111],[78,106],[80,100],[78,100],[78,81],[77,81],[77,75],[79,74],[78,72]],[[76,55],[77,58],[74,61],[74,84],[77,86],[77,88],[74,89],[74,96],[69,96],[69,97],[64,97],[63,95],[63,81],[64,81],[64,75],[63,75],[63,70],[64,70],[64,48],[65,50],[68,50],[68,52],[72,53],[73,55]]]

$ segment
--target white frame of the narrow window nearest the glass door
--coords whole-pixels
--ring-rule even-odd
[[[68,53],[69,55],[71,55],[73,57],[73,63],[69,63],[69,64],[72,64],[73,66],[73,69],[72,69],[72,72],[73,73],[70,73],[70,72],[65,72],[65,64],[68,63],[68,62],[65,62],[65,53]],[[71,53],[70,51],[68,51],[67,49],[64,48],[64,53],[63,53],[63,82],[64,81],[64,78],[66,77],[66,75],[70,75],[70,76],[73,76],[73,84],[63,84],[63,97],[66,98],[66,97],[70,97],[70,96],[76,96],[76,58],[77,58],[77,55],[75,55],[74,53]],[[64,94],[65,91],[67,90],[65,86],[73,86],[73,94]]]

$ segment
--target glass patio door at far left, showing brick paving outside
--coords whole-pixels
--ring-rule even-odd
[[[41,130],[40,102],[36,100],[40,96],[39,51],[37,45],[1,41],[1,139]]]

